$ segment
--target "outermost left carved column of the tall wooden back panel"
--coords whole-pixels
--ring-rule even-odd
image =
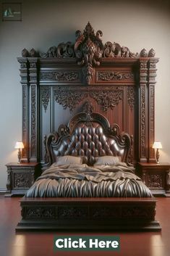
[[[22,141],[25,148],[22,149],[22,162],[29,162],[29,64],[26,57],[17,58],[20,62],[20,77],[22,84]]]

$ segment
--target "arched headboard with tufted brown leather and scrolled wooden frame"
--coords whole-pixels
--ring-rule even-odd
[[[93,165],[95,157],[114,155],[129,163],[132,138],[119,134],[119,126],[110,126],[101,114],[80,112],[68,125],[60,125],[56,133],[45,137],[46,162],[51,165],[57,156],[82,156],[83,162]]]

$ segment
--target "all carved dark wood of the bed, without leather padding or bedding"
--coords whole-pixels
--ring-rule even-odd
[[[74,130],[75,119],[69,123],[69,131],[61,125],[58,133],[51,133],[74,115],[77,122],[80,116],[76,114],[82,112],[86,101],[88,113],[98,112],[104,129],[111,124],[109,131],[105,129],[107,136],[113,136],[123,149],[126,148],[124,140],[128,142],[128,149],[124,150],[127,153],[122,157],[124,162],[155,162],[151,146],[155,134],[158,58],[153,49],[133,54],[117,43],[103,45],[101,36],[101,30],[94,33],[88,22],[83,33],[77,30],[75,44],[61,43],[46,53],[34,49],[22,51],[22,57],[18,58],[22,84],[22,141],[25,144],[22,162],[41,162],[44,168],[53,162],[58,154],[54,151],[61,146],[60,140],[68,138]],[[81,121],[87,122],[87,115],[83,115]],[[95,119],[96,116],[91,117]],[[101,124],[100,118],[95,121]],[[121,137],[119,132],[124,131],[132,137]],[[45,149],[43,136],[48,133],[51,135],[45,136]],[[22,220],[17,231],[161,230],[158,221],[154,220],[154,198],[24,197],[21,207]]]

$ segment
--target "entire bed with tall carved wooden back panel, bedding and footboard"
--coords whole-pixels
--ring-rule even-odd
[[[17,58],[22,162],[43,171],[21,199],[17,231],[161,230],[156,199],[133,166],[155,162],[158,58],[153,49],[103,44],[102,35],[88,22],[75,43]],[[80,162],[59,165],[70,157]]]

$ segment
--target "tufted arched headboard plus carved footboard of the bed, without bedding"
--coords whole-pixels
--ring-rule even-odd
[[[95,153],[119,156],[129,164],[132,139],[127,133],[120,135],[119,126],[111,127],[106,117],[80,112],[68,126],[60,125],[58,133],[47,136],[46,149],[49,165],[56,161],[56,156],[77,156],[81,152],[88,164],[93,164]],[[22,220],[17,231],[161,230],[155,220],[156,199],[153,198],[24,197],[21,207]]]

